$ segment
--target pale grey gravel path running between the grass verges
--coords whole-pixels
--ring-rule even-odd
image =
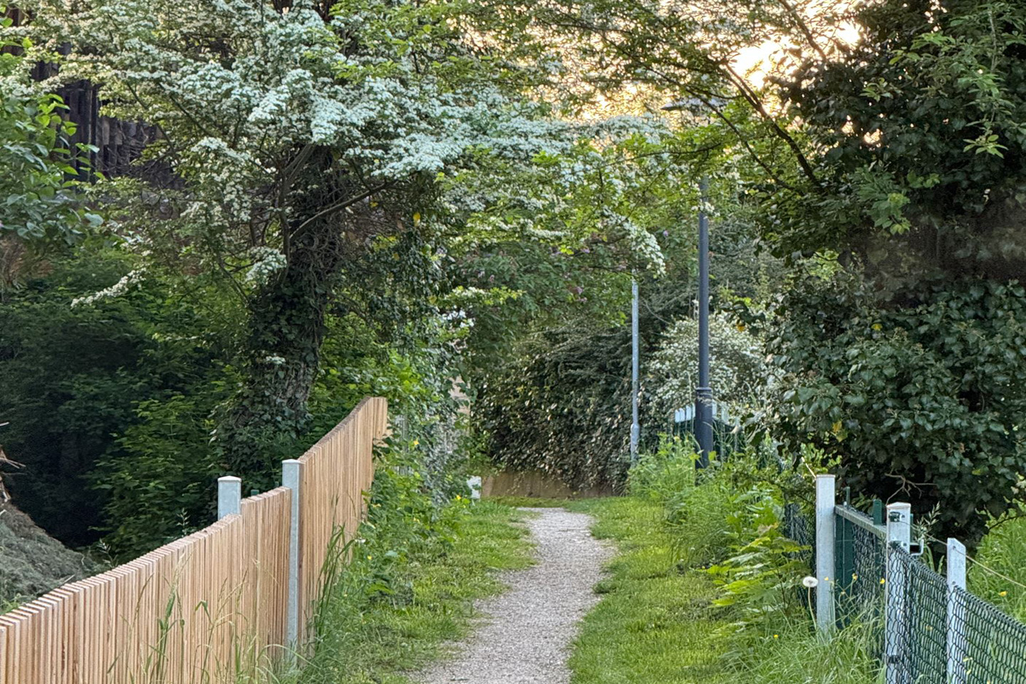
[[[477,606],[486,622],[423,684],[566,684],[578,621],[598,602],[592,588],[613,550],[588,531],[591,518],[562,509],[524,509],[538,564],[504,575],[510,589]]]

